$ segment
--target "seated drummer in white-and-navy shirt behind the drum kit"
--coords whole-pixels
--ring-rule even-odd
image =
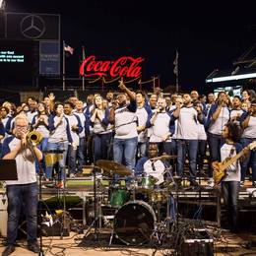
[[[150,175],[157,178],[156,185],[160,185],[164,181],[163,172],[166,162],[162,160],[153,160],[158,158],[159,146],[157,143],[151,143],[148,149],[148,157],[143,157],[138,160],[135,167],[135,176]]]

